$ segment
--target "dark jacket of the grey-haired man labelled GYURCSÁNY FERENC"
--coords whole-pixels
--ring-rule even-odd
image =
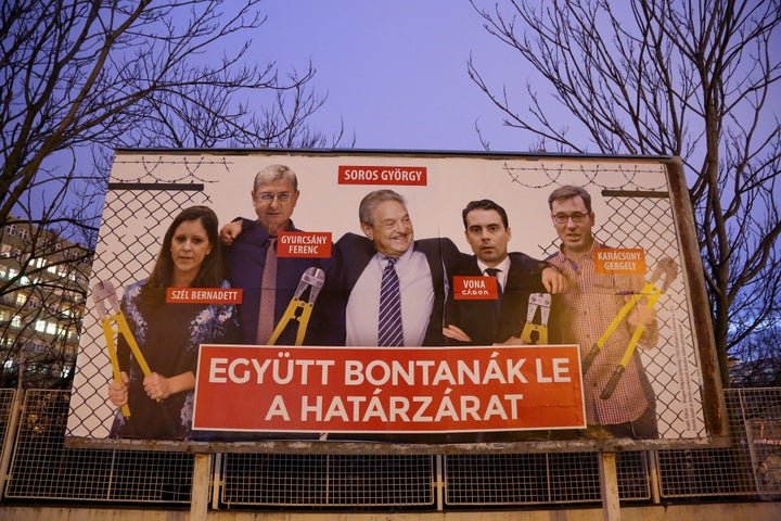
[[[292,226],[287,231],[300,231]],[[242,219],[242,232],[226,249],[225,266],[228,281],[232,288],[243,290],[239,306],[244,342],[255,344],[260,309],[263,274],[266,266],[266,241],[268,232],[256,221]],[[302,275],[310,266],[321,267],[318,258],[278,257],[277,295],[274,301],[274,325],[279,322],[295,294]],[[308,330],[307,330],[308,334]],[[296,325],[289,327],[277,341],[279,345],[294,345]],[[308,343],[305,340],[305,343]]]

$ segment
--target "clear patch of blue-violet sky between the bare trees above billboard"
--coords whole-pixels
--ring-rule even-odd
[[[503,127],[469,78],[470,53],[496,86],[521,89],[526,77],[512,50],[490,36],[466,0],[268,0],[268,21],[253,35],[258,61],[285,71],[317,68],[327,105],[315,125],[344,119],[361,149],[527,152],[533,138]]]

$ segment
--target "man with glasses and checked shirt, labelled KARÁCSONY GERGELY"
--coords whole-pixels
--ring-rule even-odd
[[[591,196],[584,188],[560,187],[548,198],[548,205],[561,246],[547,260],[567,279],[567,290],[553,296],[554,306],[563,313],[561,336],[564,343],[579,344],[581,357],[586,357],[630,295],[643,288],[644,279],[639,275],[596,272],[594,249],[607,246],[594,240]],[[656,345],[655,313],[635,306],[584,374],[586,420],[616,437],[656,439],[656,401],[637,350],[613,394],[606,399],[600,396],[638,326],[643,326],[640,347]]]

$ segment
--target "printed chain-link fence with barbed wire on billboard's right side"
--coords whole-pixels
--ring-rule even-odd
[[[540,166],[535,185],[528,182],[528,170],[520,175],[507,166],[514,182],[525,188],[549,188],[552,191],[564,175],[568,182],[582,186],[592,200],[601,200],[607,212],[598,213],[593,228],[597,240],[611,247],[642,249],[648,270],[656,263],[670,257],[682,268],[681,245],[676,233],[673,204],[666,185],[649,185],[653,167],[605,165],[580,173]],[[605,179],[614,182],[605,185]],[[543,182],[545,181],[545,182]],[[546,255],[559,251],[559,243],[540,244]],[[704,437],[702,379],[696,345],[687,300],[684,277],[669,285],[656,305],[660,339],[656,348],[640,351],[645,373],[656,396],[656,416],[662,439]]]

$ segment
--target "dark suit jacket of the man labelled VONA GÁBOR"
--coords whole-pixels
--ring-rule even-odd
[[[529,295],[547,292],[540,281],[545,266],[545,263],[526,254],[510,253],[510,272],[508,272],[507,287],[502,290],[498,313],[496,301],[457,301],[452,298],[451,290],[446,309],[446,323],[452,323],[464,330],[472,338],[469,345],[490,345],[504,342],[510,336],[521,336],[526,323]],[[457,275],[483,275],[477,267],[476,256],[470,257],[464,269]],[[450,287],[452,288],[452,284]],[[451,339],[448,339],[448,344],[464,345],[463,342]]]

